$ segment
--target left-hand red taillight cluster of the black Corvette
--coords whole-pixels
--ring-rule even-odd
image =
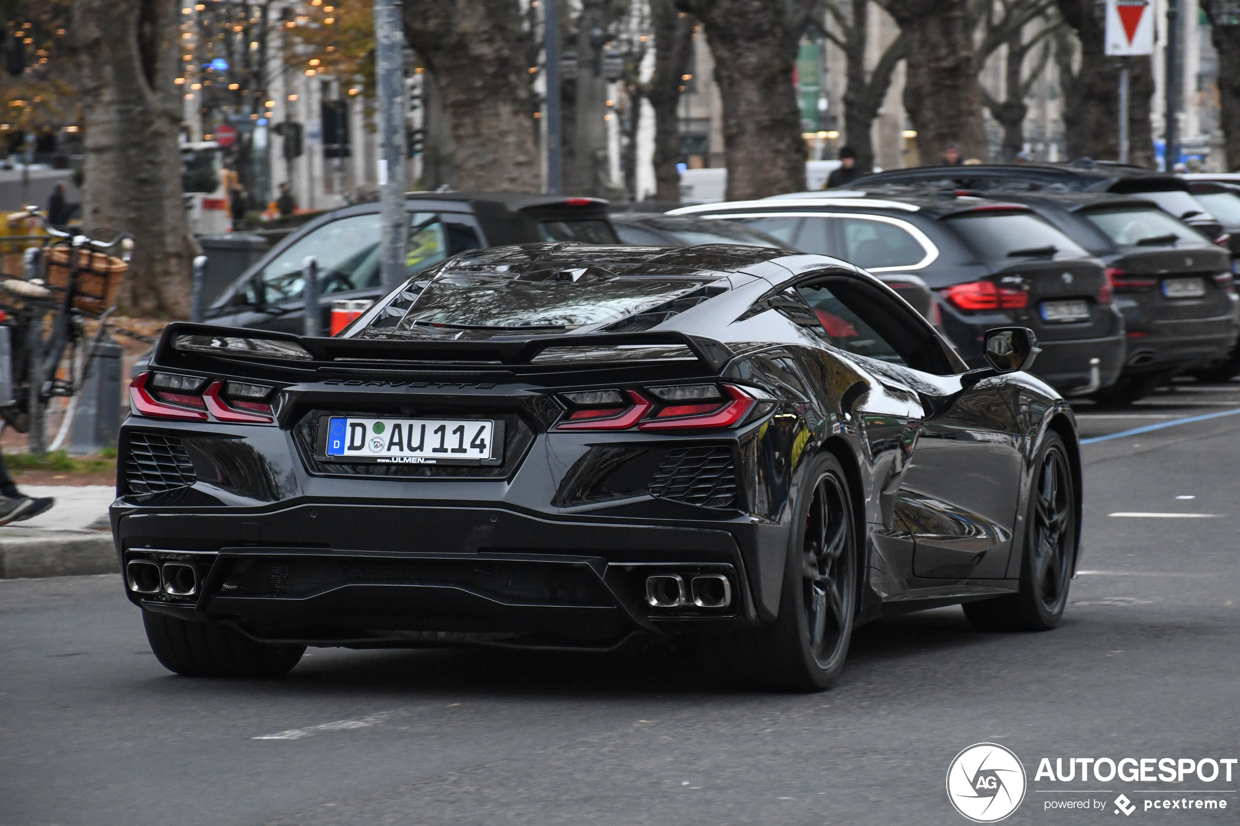
[[[270,402],[264,401],[272,390],[262,384],[208,384],[200,376],[141,373],[129,385],[129,404],[139,416],[265,425],[275,420]]]

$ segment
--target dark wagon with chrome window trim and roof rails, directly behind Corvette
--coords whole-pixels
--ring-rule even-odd
[[[1068,394],[1112,384],[1123,318],[1104,265],[1029,207],[909,191],[887,198],[769,198],[682,207],[672,214],[738,220],[792,249],[841,258],[874,275],[909,274],[934,290],[942,331],[985,367],[992,327],[1030,327],[1033,372]],[[895,197],[899,199],[897,201]]]

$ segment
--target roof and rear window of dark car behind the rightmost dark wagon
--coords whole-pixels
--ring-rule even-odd
[[[1188,182],[1174,175],[1140,166],[1081,159],[1071,163],[978,163],[975,166],[916,166],[875,172],[852,181],[849,189],[888,185],[939,186],[944,189],[1011,192],[1114,192],[1138,194],[1197,229],[1210,240],[1226,244],[1218,218],[1192,196]]]

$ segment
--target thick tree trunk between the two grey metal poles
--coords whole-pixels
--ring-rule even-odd
[[[537,192],[521,7],[512,0],[405,2],[404,33],[439,79],[461,189]]]

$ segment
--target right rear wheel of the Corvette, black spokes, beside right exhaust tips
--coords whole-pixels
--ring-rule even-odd
[[[776,691],[823,691],[844,667],[857,614],[859,555],[839,459],[820,453],[792,510],[779,617],[756,633],[703,640],[713,667]]]

